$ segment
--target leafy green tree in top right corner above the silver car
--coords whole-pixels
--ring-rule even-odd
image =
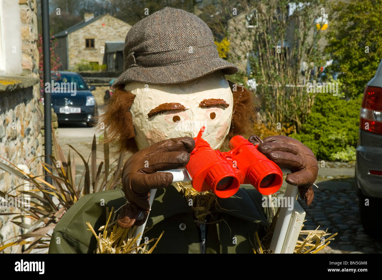
[[[325,51],[333,59],[328,70],[338,73],[346,97],[363,94],[382,58],[382,1],[332,2],[334,20],[327,30]]]

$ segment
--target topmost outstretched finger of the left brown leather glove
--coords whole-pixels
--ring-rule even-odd
[[[186,151],[191,153],[195,147],[195,141],[191,137],[178,137],[162,140],[154,143],[143,150],[142,156],[147,156],[155,153],[164,153],[169,151]]]

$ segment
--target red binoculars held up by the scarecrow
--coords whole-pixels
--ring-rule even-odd
[[[263,195],[278,191],[283,183],[280,167],[244,137],[232,137],[230,151],[220,152],[202,139],[204,127],[195,140],[186,169],[197,191],[214,191],[220,198],[234,195],[241,184],[251,184]]]

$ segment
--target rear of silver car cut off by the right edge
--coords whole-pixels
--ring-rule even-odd
[[[363,228],[375,235],[382,229],[382,61],[363,95],[354,185]]]

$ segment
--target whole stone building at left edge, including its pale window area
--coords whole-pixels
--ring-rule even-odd
[[[32,161],[43,154],[37,39],[37,0],[0,0],[0,156],[34,175],[43,174]],[[22,183],[0,169],[1,191],[16,195]],[[0,213],[17,211],[0,208]],[[11,217],[0,216],[0,244],[21,233]],[[20,251],[21,246],[5,249]]]

